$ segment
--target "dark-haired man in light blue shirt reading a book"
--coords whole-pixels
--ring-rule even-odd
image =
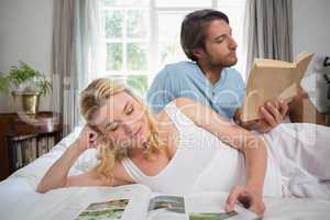
[[[180,35],[183,50],[193,62],[167,65],[157,74],[147,92],[155,113],[175,98],[186,97],[234,119],[245,129],[268,132],[283,122],[288,106],[274,100],[260,108],[263,119],[241,123],[239,108],[245,84],[241,74],[231,68],[238,62],[238,44],[224,13],[211,9],[189,13],[183,21]]]

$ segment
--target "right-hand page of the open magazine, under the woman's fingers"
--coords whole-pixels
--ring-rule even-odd
[[[170,196],[153,194],[148,205],[147,220],[258,220],[260,218],[240,206],[227,212],[228,194],[198,193]]]

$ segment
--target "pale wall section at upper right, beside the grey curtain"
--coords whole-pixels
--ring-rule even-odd
[[[294,55],[307,51],[330,55],[330,1],[293,0]]]

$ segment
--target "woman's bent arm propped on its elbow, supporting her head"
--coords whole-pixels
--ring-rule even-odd
[[[68,177],[68,172],[77,158],[90,146],[96,146],[97,133],[85,127],[77,141],[52,165],[40,182],[36,191],[46,193],[54,188],[65,186],[100,185],[92,172]]]

